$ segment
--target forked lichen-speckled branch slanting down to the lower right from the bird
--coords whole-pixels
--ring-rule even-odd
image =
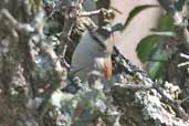
[[[126,63],[120,63],[120,61],[117,61],[117,64],[119,64],[119,69],[123,67],[124,71],[132,72],[132,74],[136,75],[139,80],[141,80],[141,84],[122,84],[122,83],[116,83],[116,85],[120,86],[122,88],[129,88],[129,90],[150,90],[155,88],[167,104],[169,104],[178,114],[179,117],[181,118],[188,118],[188,114],[185,112],[185,109],[180,106],[179,102],[174,101],[164,92],[161,87],[155,82],[153,82],[147,75],[145,75],[139,69],[133,66],[129,61],[127,61],[118,51],[118,49],[114,48],[114,51],[116,53],[116,56],[119,57],[120,60],[125,61]],[[127,64],[127,65],[126,65]]]

